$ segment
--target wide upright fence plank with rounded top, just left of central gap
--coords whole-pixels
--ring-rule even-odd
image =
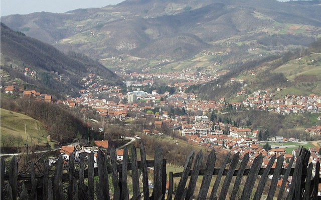
[[[162,172],[163,172],[163,150],[161,146],[156,147],[154,156],[154,188],[152,196],[154,199],[158,199],[162,195]]]

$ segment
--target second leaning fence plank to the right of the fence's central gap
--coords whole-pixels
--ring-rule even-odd
[[[190,199],[193,197],[193,193],[195,190],[195,186],[196,186],[196,181],[199,175],[199,171],[201,168],[201,164],[202,164],[202,160],[203,160],[203,152],[202,150],[200,150],[197,155],[196,155],[196,159],[194,162],[194,168],[193,168],[193,172],[190,178],[190,182],[189,182],[189,186],[186,192],[186,197],[185,199]]]

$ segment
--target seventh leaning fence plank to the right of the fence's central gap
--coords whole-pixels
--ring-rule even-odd
[[[242,192],[241,199],[249,199],[251,196],[252,189],[257,177],[257,174],[260,170],[261,164],[263,161],[263,156],[260,153],[253,161],[253,164],[250,168],[249,174],[246,178],[245,186]]]

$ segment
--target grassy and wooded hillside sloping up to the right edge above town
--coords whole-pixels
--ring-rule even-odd
[[[235,81],[231,81],[234,78]],[[280,88],[281,91],[276,91]],[[276,97],[285,95],[321,95],[321,40],[304,50],[297,49],[280,55],[239,63],[219,80],[193,85],[188,91],[201,98],[242,101],[237,92],[269,90]],[[211,91],[211,92],[209,92]],[[243,96],[246,98],[247,96]]]

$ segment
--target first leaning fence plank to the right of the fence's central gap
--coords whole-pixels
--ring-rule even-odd
[[[183,174],[182,174],[182,177],[180,179],[179,185],[177,187],[177,192],[175,194],[174,200],[179,200],[179,199],[181,199],[183,197],[184,188],[185,188],[187,179],[189,177],[189,172],[190,172],[191,167],[192,167],[194,154],[195,154],[195,151],[193,150],[190,153],[190,155],[187,157],[187,160],[186,160],[186,163],[185,163],[185,166],[184,166],[184,170],[183,170]]]

